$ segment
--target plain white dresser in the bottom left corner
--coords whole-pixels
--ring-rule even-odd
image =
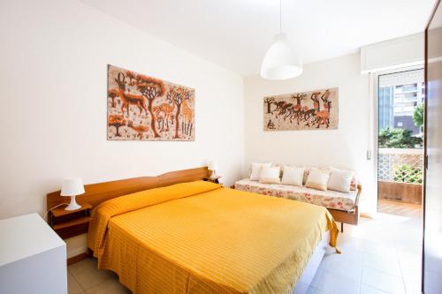
[[[67,293],[66,245],[37,214],[0,220],[0,293]]]

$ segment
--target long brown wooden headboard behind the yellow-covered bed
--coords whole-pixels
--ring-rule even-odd
[[[77,196],[77,202],[81,205],[88,203],[95,208],[103,201],[123,196],[133,192],[139,192],[166,185],[202,180],[210,176],[211,171],[207,167],[175,170],[157,177],[133,177],[112,182],[85,185],[85,193]],[[60,191],[50,192],[46,196],[46,207],[49,210],[58,204],[69,202],[66,197],[60,196]]]

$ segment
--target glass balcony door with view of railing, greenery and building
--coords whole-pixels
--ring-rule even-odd
[[[422,217],[423,69],[378,76],[377,211]]]

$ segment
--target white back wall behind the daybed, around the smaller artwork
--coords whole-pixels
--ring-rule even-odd
[[[287,81],[248,77],[244,87],[246,150],[243,176],[250,162],[354,169],[361,177],[364,190],[362,210],[372,212],[376,208],[373,163],[366,159],[370,147],[369,77],[361,74],[359,54],[306,64],[300,77]],[[339,87],[338,130],[263,132],[264,96],[326,87]]]

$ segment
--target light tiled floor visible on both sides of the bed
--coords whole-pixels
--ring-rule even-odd
[[[376,220],[362,218],[357,227],[345,226],[338,244],[342,254],[326,255],[310,287],[300,287],[296,294],[420,293],[420,219],[385,214]],[[117,275],[96,269],[96,260],[68,269],[69,294],[130,293]]]

